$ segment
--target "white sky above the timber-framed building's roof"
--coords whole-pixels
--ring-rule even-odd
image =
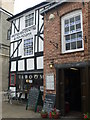
[[[17,14],[29,7],[32,7],[45,0],[15,0],[14,3],[14,14]]]

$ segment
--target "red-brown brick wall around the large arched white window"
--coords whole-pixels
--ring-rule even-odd
[[[83,40],[85,36],[87,42],[84,42],[84,51],[62,54],[61,52],[61,17],[69,12],[82,9],[83,17]],[[49,15],[54,14],[55,18],[49,20]],[[64,3],[61,6],[52,9],[44,15],[44,95],[46,92],[56,92],[56,70],[53,67],[49,68],[49,64],[54,59],[54,64],[82,62],[90,60],[90,3]],[[58,49],[54,47],[50,41],[58,43]],[[46,91],[46,74],[54,73],[55,75],[55,90]]]

